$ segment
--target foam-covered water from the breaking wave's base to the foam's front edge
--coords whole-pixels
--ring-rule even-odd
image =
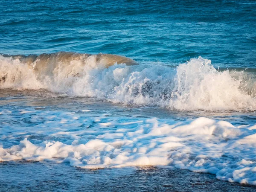
[[[50,160],[83,169],[172,165],[255,184],[255,112],[129,107],[45,90],[2,91],[0,111],[3,162]]]

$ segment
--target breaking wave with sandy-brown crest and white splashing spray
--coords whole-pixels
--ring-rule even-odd
[[[218,70],[202,57],[172,68],[111,54],[1,55],[0,88],[46,89],[125,105],[256,111],[256,75]]]

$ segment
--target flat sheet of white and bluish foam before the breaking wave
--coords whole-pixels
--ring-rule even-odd
[[[10,114],[3,114],[3,118],[12,119]],[[84,169],[172,165],[212,173],[229,182],[256,185],[253,125],[237,128],[229,122],[204,117],[174,122],[157,118],[84,117],[60,111],[22,115],[43,122],[33,128],[8,125],[2,129],[0,139],[5,142],[0,145],[1,161],[55,160]],[[93,128],[80,129],[81,125],[91,125],[90,122],[96,123]],[[15,138],[20,142],[13,143]]]

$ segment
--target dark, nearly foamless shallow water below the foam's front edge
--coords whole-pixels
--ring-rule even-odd
[[[88,170],[74,169],[66,164],[53,164],[51,162],[25,163],[16,161],[0,164],[0,170],[2,183],[0,191],[5,191],[3,189],[8,191],[171,190],[180,192],[230,190],[253,192],[256,190],[255,186],[227,183],[215,179],[213,175],[187,172],[172,167],[150,166]]]

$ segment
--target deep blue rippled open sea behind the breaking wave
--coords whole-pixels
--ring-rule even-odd
[[[111,53],[176,64],[256,67],[256,2],[0,1],[0,53]]]

